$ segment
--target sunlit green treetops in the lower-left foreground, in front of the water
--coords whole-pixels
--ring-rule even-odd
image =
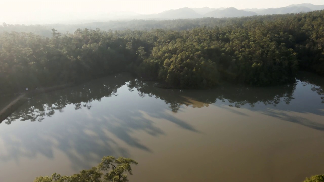
[[[89,170],[82,170],[80,173],[72,176],[61,176],[54,173],[52,176],[37,177],[34,182],[126,182],[128,181],[128,172],[132,175],[131,164],[138,163],[130,158],[108,156],[103,157],[97,167]],[[111,170],[110,170],[111,169]],[[110,171],[108,171],[110,170]],[[102,172],[106,172],[104,176]]]

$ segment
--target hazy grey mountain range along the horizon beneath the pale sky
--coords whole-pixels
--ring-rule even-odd
[[[41,18],[32,19],[28,22],[26,20],[19,20],[20,24],[49,24],[49,23],[61,23],[61,24],[80,24],[91,22],[107,22],[111,20],[170,20],[170,19],[194,19],[203,17],[249,17],[256,15],[272,15],[272,14],[288,14],[288,13],[300,13],[309,12],[324,9],[324,5],[313,5],[310,3],[289,5],[286,7],[278,8],[247,8],[237,9],[235,7],[221,7],[221,8],[189,8],[183,7],[179,9],[171,9],[163,11],[157,14],[138,14],[135,12],[98,12],[92,14],[63,14],[60,12],[52,12],[51,16],[39,16]],[[38,17],[38,16],[36,16]],[[0,21],[0,24],[3,23]],[[5,22],[10,23],[10,22]]]

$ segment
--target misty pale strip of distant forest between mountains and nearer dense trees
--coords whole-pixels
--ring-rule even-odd
[[[281,15],[275,15],[281,16]],[[253,17],[249,17],[250,19]],[[254,17],[256,18],[256,17]],[[60,32],[74,32],[78,28],[100,28],[105,31],[115,30],[151,30],[151,29],[170,29],[170,30],[190,30],[199,27],[222,27],[242,21],[241,18],[196,18],[196,19],[175,19],[175,20],[132,20],[132,21],[108,21],[92,22],[84,24],[46,24],[46,25],[19,25],[6,24],[0,25],[0,32],[32,32],[44,37],[52,37],[52,28]]]

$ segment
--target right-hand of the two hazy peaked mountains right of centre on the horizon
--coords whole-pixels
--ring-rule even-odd
[[[203,16],[222,18],[222,17],[250,17],[254,15],[257,15],[257,13],[251,11],[238,10],[234,7],[230,7],[223,10],[217,9],[212,12],[206,13]]]

